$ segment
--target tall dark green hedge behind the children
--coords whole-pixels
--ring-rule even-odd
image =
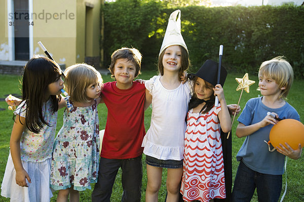
[[[260,64],[285,56],[296,78],[304,78],[304,7],[170,8],[159,1],[119,0],[106,3],[104,12],[104,66],[122,46],[143,55],[143,69],[156,69],[171,12],[181,10],[181,31],[193,67],[206,59],[218,60],[223,44],[223,66],[230,72],[256,73]]]

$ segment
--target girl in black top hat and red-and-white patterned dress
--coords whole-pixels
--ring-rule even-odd
[[[183,176],[180,192],[185,201],[225,198],[224,163],[220,128],[231,130],[223,84],[227,75],[218,64],[207,60],[194,76],[194,96],[189,103],[184,141]],[[220,105],[214,106],[215,96]]]

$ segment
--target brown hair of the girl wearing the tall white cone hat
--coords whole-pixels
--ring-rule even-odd
[[[181,68],[179,69],[179,72],[178,72],[178,78],[180,78],[182,72],[186,71],[191,66],[191,62],[189,59],[189,54],[186,51],[186,49],[181,45],[178,45],[178,46],[181,49]],[[166,49],[164,49],[164,51],[160,54],[159,60],[158,60],[158,69],[159,69],[160,75],[164,75],[163,57],[165,55]]]

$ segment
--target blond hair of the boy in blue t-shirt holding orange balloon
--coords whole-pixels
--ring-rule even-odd
[[[259,68],[258,76],[274,79],[279,88],[285,87],[281,90],[279,98],[287,97],[293,82],[293,70],[283,56],[263,62]]]

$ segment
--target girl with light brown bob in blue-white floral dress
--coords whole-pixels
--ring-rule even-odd
[[[65,70],[64,81],[71,108],[64,111],[63,126],[53,149],[51,188],[57,201],[79,201],[79,191],[97,182],[102,78],[92,66],[77,64]],[[69,106],[67,104],[67,106]]]

